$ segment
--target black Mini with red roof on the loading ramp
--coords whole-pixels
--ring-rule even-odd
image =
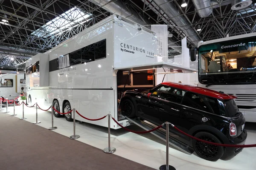
[[[235,98],[206,88],[163,82],[142,93],[125,91],[120,106],[122,114],[129,118],[138,117],[154,125],[170,122],[180,130],[209,142],[244,144],[247,138],[245,119],[236,106]],[[185,140],[198,156],[209,161],[231,159],[242,150],[198,142],[173,127],[169,131]]]

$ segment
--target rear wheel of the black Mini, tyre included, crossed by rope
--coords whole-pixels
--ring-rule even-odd
[[[209,142],[221,143],[221,141],[216,136],[208,132],[198,132],[195,134],[195,137]],[[193,139],[192,144],[195,153],[197,153],[199,157],[206,159],[208,161],[217,161],[222,157],[224,153],[224,147],[221,146],[206,144],[203,142],[196,141],[195,139]]]

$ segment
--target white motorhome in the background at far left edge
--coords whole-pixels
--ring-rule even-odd
[[[15,99],[20,95],[21,88],[26,91],[24,74],[1,74],[0,96],[4,99]]]

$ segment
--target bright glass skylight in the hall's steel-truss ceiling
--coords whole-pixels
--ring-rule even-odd
[[[32,35],[47,38],[56,33],[61,34],[87,22],[92,19],[91,16],[92,14],[86,14],[75,6],[32,32]]]

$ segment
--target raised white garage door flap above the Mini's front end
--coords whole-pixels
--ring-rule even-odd
[[[114,68],[114,70],[138,71],[138,70],[148,70],[148,69],[156,69],[156,68],[163,68],[163,74],[197,72],[194,69],[186,68],[179,65],[174,65],[168,62],[155,62],[155,63],[145,64],[145,65],[131,65],[129,67],[122,67],[122,68],[116,67]],[[161,74],[161,73],[158,72],[157,74]]]

